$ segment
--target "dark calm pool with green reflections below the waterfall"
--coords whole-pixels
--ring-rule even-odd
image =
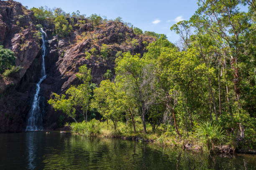
[[[158,148],[161,150],[161,148]],[[219,157],[69,133],[0,134],[0,170],[256,170],[256,155]]]

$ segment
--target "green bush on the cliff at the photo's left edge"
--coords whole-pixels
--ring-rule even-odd
[[[0,74],[7,69],[10,69],[8,73],[15,71],[15,67],[13,66],[15,66],[14,52],[10,49],[3,48],[3,45],[0,45]]]

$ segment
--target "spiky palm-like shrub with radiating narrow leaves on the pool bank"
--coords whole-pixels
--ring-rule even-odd
[[[196,131],[197,136],[207,145],[209,151],[214,150],[215,145],[223,142],[226,138],[222,127],[210,121],[201,122]]]

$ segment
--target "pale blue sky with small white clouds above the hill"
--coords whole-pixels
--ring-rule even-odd
[[[188,20],[197,10],[197,0],[17,0],[31,7],[60,7],[67,13],[77,10],[90,16],[92,13],[108,19],[122,17],[125,22],[143,31],[167,35],[171,42],[179,37],[170,27],[179,20]]]

